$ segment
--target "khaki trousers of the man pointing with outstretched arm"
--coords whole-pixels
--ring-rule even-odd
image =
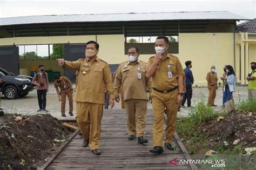
[[[89,147],[99,149],[104,104],[77,102],[76,119],[84,140],[89,139]]]

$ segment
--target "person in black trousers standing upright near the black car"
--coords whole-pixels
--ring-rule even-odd
[[[32,84],[36,85],[39,110],[37,112],[48,112],[46,107],[46,93],[49,91],[48,74],[44,71],[44,65],[38,66],[38,73],[32,79]]]

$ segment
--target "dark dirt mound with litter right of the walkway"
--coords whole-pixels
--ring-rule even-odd
[[[256,147],[256,112],[235,111],[228,114],[223,120],[213,120],[203,124],[201,134],[208,135],[208,149],[215,149],[221,143],[224,149],[232,149],[241,144],[241,147]],[[237,140],[237,144],[233,142]]]

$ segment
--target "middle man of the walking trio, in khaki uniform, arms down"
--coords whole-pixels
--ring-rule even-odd
[[[147,64],[138,60],[139,49],[131,47],[129,61],[121,63],[114,78],[114,98],[119,103],[119,90],[123,85],[124,105],[127,113],[128,139],[138,136],[138,143],[147,143],[144,138],[147,112],[147,87],[151,88],[151,78],[146,78]]]

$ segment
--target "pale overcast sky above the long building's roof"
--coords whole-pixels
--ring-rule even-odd
[[[88,13],[230,11],[256,18],[256,0],[250,1],[11,1],[0,0],[0,18]]]

